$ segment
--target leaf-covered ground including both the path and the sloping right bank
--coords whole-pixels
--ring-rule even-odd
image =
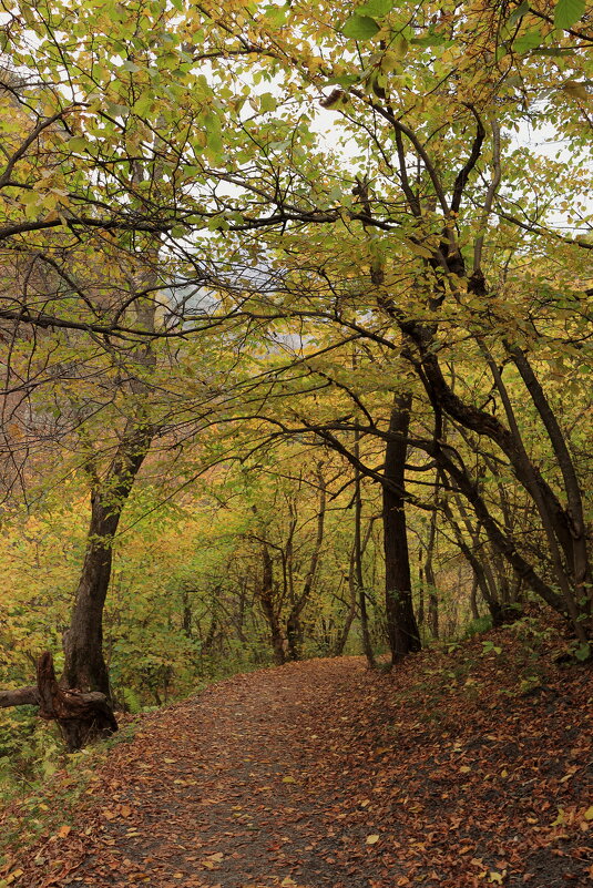
[[[593,885],[591,667],[528,642],[295,663],[147,714],[0,886]]]

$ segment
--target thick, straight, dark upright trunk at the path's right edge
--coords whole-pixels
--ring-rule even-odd
[[[410,425],[411,395],[396,395],[385,455],[384,545],[387,634],[392,662],[420,650],[420,633],[413,613],[410,558],[406,527],[406,436]]]

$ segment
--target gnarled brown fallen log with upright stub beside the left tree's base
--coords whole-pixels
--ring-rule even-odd
[[[99,691],[84,694],[76,688],[60,686],[49,651],[37,662],[37,686],[0,691],[0,708],[28,704],[39,706],[41,718],[58,723],[69,752],[117,731],[117,722],[104,694]]]

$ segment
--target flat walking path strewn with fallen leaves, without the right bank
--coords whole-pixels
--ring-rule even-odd
[[[356,727],[347,701],[354,685],[366,697],[369,678],[358,659],[309,661],[236,676],[159,713],[125,756],[121,788],[112,783],[100,847],[78,879],[367,888],[360,859],[374,830],[342,754]]]

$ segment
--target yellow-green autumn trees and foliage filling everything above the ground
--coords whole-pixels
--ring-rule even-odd
[[[2,9],[6,680],[48,601],[108,700],[530,599],[589,656],[585,1]]]

